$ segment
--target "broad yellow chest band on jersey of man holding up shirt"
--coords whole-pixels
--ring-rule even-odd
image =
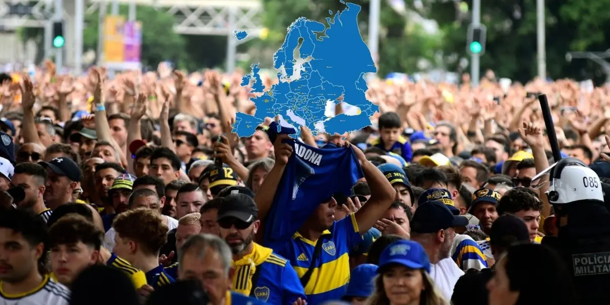
[[[307,272],[308,268],[296,267],[299,278]],[[320,272],[321,269],[321,272]],[[322,264],[321,267],[314,268],[311,274],[311,281],[305,287],[306,295],[317,295],[343,287],[350,278],[350,254],[344,253],[339,259],[331,260]]]

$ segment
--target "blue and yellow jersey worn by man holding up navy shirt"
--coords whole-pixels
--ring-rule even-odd
[[[322,251],[317,261],[312,264],[317,240],[305,239],[296,232],[286,243],[273,245],[273,252],[290,260],[299,278],[313,267],[309,282],[304,287],[307,304],[321,304],[328,300],[339,300],[350,281],[350,251],[362,242],[356,218],[343,218],[332,224],[322,236]]]

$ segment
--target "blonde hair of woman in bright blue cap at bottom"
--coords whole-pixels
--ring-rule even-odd
[[[436,285],[434,285],[434,281],[432,281],[428,273],[423,269],[420,271],[422,272],[424,287],[420,296],[420,305],[450,305]],[[367,305],[390,305],[390,299],[387,298],[386,289],[383,286],[383,273],[376,276],[375,291],[368,298]]]

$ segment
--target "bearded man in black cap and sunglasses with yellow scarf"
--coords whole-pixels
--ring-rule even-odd
[[[303,285],[288,260],[253,241],[260,227],[258,211],[254,199],[241,193],[224,197],[218,208],[220,237],[233,254],[231,290],[270,304],[292,305],[299,299],[306,300]]]

